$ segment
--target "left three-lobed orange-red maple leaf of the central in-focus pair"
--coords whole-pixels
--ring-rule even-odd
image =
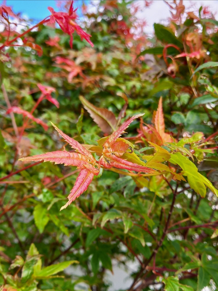
[[[92,182],[94,175],[99,174],[99,166],[94,159],[93,155],[88,149],[79,144],[76,140],[69,137],[58,129],[53,123],[52,126],[58,131],[62,138],[77,152],[68,152],[66,150],[58,150],[53,152],[48,152],[41,155],[36,155],[27,158],[21,158],[19,161],[22,162],[54,162],[55,164],[64,164],[64,166],[77,166],[80,170],[78,178],[74,184],[73,189],[68,195],[68,202],[62,206],[61,210],[65,209],[70,205],[78,196],[85,192]]]

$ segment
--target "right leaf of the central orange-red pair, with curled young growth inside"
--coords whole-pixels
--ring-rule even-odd
[[[125,129],[133,122],[136,118],[142,116],[144,114],[137,114],[132,116],[129,120],[125,121],[125,123],[116,131],[114,131],[109,137],[104,141],[102,147],[102,156],[99,160],[99,164],[104,166],[105,168],[109,169],[112,167],[116,167],[119,169],[126,169],[129,171],[136,171],[136,172],[144,172],[144,173],[155,173],[156,171],[153,169],[149,169],[141,163],[135,163],[127,161],[126,159],[122,159],[121,157],[127,153],[129,149],[130,152],[133,152],[130,143],[119,139],[119,137],[124,133]],[[130,153],[131,155],[131,153]]]

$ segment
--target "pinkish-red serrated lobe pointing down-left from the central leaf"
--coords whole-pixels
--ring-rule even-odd
[[[70,194],[68,195],[69,201],[62,206],[61,210],[65,209],[68,205],[70,205],[75,199],[78,198],[83,192],[85,192],[92,182],[94,174],[89,170],[81,170],[78,175],[78,178],[74,184],[73,189],[71,190]],[[61,211],[60,210],[60,211]]]

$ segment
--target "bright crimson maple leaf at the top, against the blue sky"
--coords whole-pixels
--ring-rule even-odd
[[[90,40],[92,35],[84,32],[81,27],[75,22],[78,19],[76,14],[77,9],[73,9],[73,2],[71,2],[69,12],[55,12],[52,7],[48,7],[48,10],[51,12],[50,23],[57,22],[62,31],[70,35],[70,47],[73,47],[73,33],[76,31],[81,39],[85,39],[92,47],[94,46]]]

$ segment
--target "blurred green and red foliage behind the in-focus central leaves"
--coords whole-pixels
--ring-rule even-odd
[[[40,96],[37,83],[54,87],[52,96],[60,103],[60,108],[47,100],[40,103],[35,116],[49,128],[31,123],[20,142],[22,156],[62,148],[48,121],[80,143],[97,145],[105,134],[81,111],[80,95],[116,117],[127,97],[124,120],[145,113],[146,124],[152,123],[163,97],[166,131],[177,140],[195,132],[207,138],[218,131],[218,21],[207,7],[189,12],[182,1],[174,1],[168,25],[156,23],[154,37],[148,38],[135,14],[150,2],[104,0],[97,14],[84,5],[80,25],[92,35],[93,48],[75,34],[70,49],[69,36],[49,25],[28,34],[28,40],[43,49],[41,57],[30,47],[7,48],[11,60],[0,63],[0,72],[11,105],[31,111]],[[69,8],[69,1],[65,4]],[[0,37],[3,43],[6,33]],[[6,106],[0,92],[0,178],[13,169],[17,142]],[[22,127],[22,115],[16,114],[16,124]],[[130,140],[139,155],[152,154],[139,128],[134,121],[128,137],[138,136]],[[216,136],[213,150],[199,151],[194,162],[218,187]],[[14,170],[22,167],[16,162]],[[179,184],[169,232],[147,263],[171,207],[166,180],[103,170],[85,194],[60,212],[77,178],[74,170],[40,163],[9,179],[28,183],[0,182],[1,291],[119,290],[111,289],[107,278],[117,265],[131,279],[129,287],[120,290],[218,288],[218,198],[211,191],[202,199],[187,182]],[[174,180],[171,187],[176,187]],[[63,273],[73,263],[77,267]],[[49,268],[52,264],[55,267]],[[136,267],[130,269],[131,264]]]

